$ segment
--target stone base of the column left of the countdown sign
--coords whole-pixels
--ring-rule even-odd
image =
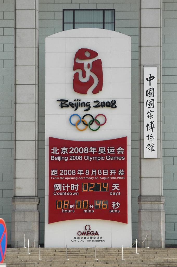
[[[14,209],[12,211],[12,231],[11,246],[13,248],[25,246],[34,248],[39,246],[39,198],[38,197],[13,197],[12,203]]]

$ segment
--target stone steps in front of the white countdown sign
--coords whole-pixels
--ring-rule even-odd
[[[176,248],[7,248],[5,263],[7,267],[177,267]]]

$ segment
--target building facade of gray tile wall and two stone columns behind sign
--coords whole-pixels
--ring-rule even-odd
[[[83,11],[78,21],[74,10]],[[104,18],[85,21],[85,10]],[[177,2],[1,0],[0,16],[0,212],[8,244],[23,246],[24,233],[31,245],[44,244],[46,37],[94,27],[131,37],[132,242],[148,233],[151,246],[175,246]],[[144,159],[143,70],[155,66],[158,151],[156,159]]]

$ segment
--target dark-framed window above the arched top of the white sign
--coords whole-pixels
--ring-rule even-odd
[[[115,31],[115,9],[63,9],[63,31],[78,28]]]

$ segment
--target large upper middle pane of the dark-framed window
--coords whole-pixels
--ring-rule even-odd
[[[103,22],[103,10],[75,10],[75,22]]]

